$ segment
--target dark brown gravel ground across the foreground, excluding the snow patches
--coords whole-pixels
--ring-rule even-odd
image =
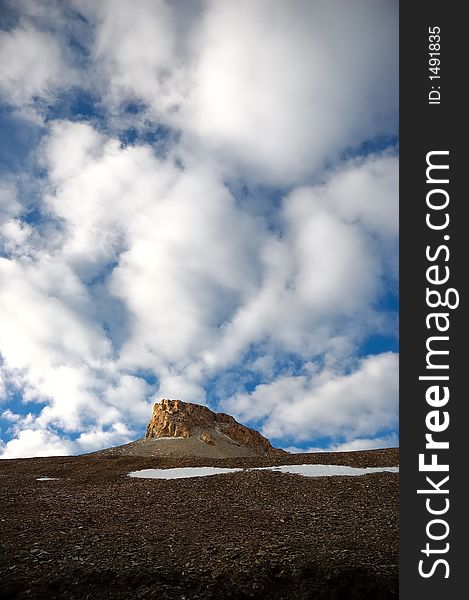
[[[398,451],[0,461],[0,599],[397,598],[397,474],[127,477],[288,463],[394,466]]]

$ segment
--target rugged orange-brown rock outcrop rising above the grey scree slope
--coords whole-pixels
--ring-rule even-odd
[[[256,454],[283,453],[283,450],[274,448],[258,431],[241,425],[232,416],[214,413],[206,406],[181,400],[165,399],[153,406],[145,437],[198,437],[208,445],[216,445],[217,439],[223,437]]]

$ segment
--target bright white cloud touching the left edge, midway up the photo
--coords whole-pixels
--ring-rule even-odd
[[[80,364],[83,357],[96,364],[106,357],[107,340],[86,322],[86,290],[66,265],[53,257],[0,259],[0,276],[1,342],[11,368],[40,369],[49,360]]]

